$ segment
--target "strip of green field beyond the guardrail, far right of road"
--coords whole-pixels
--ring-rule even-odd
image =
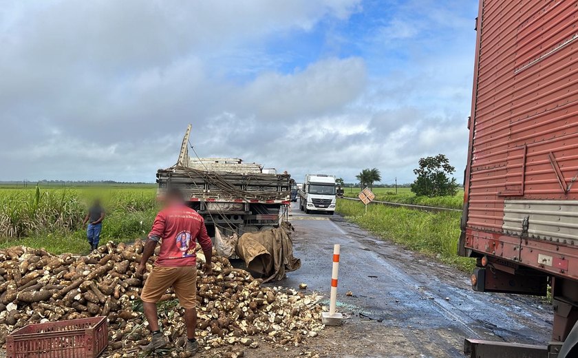
[[[462,209],[464,204],[463,190],[458,190],[455,196],[436,196],[434,198],[429,196],[416,196],[409,188],[398,188],[397,194],[395,190],[396,189],[392,188],[374,188],[375,200],[450,209]],[[347,198],[357,198],[359,191],[359,188],[345,188],[345,196]]]

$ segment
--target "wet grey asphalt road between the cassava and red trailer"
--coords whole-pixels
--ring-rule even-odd
[[[372,339],[384,353],[376,357],[464,357],[465,337],[525,344],[549,339],[552,309],[537,299],[473,292],[469,274],[374,238],[339,215],[306,215],[293,203],[290,222],[301,268],[280,284],[303,282],[328,299],[333,244],[341,244],[338,310],[352,316],[347,325],[353,333],[355,325],[377,321]]]

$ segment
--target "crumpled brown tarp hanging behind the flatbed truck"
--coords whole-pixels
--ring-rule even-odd
[[[261,273],[264,282],[283,280],[286,272],[301,267],[301,260],[293,257],[290,224],[285,227],[244,233],[237,243],[237,255],[250,271]]]

